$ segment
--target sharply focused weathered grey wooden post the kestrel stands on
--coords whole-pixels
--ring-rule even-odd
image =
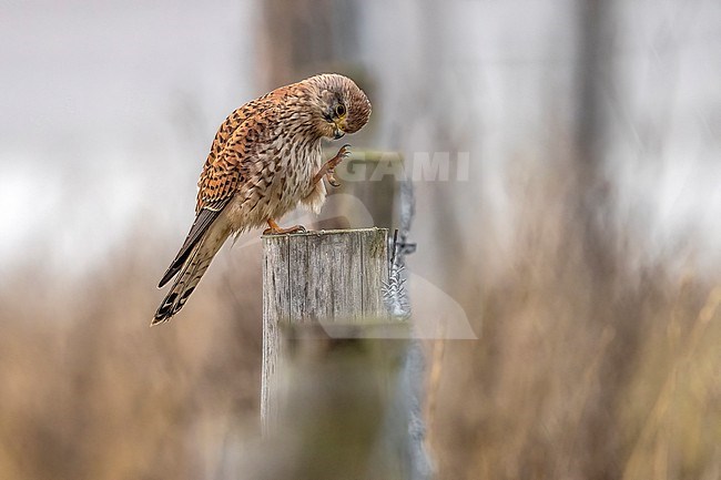
[[[385,228],[263,237],[261,416],[266,431],[278,416],[284,329],[387,321],[382,292],[388,279],[387,237]]]

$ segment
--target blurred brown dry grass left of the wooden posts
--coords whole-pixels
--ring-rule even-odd
[[[153,328],[166,253],[123,249],[73,285],[18,273],[0,302],[0,478],[213,478],[258,404],[260,251],[234,254]]]

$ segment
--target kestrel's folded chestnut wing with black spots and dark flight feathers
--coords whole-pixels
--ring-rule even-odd
[[[260,110],[255,102],[245,104],[231,113],[223,122],[211,146],[203,172],[197,182],[197,204],[195,221],[183,242],[175,259],[161,278],[158,287],[170,282],[183,266],[193,247],[200,242],[211,224],[217,218],[244,181],[244,162],[252,155],[253,144],[257,142]]]

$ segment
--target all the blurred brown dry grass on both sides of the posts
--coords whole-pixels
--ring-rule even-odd
[[[439,478],[720,478],[720,283],[638,262],[621,231],[590,268],[573,186],[547,171],[515,181],[510,254],[487,242],[458,276],[480,339],[429,345]],[[151,329],[172,253],[138,244],[70,284],[6,282],[0,478],[242,477],[224,472],[258,407],[260,247],[224,252]]]

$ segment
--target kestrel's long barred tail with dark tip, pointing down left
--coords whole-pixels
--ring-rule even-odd
[[[211,261],[223,245],[223,239],[205,236],[193,247],[170,292],[158,307],[151,325],[167,321],[180,312],[191,296],[201,277],[207,269]]]

